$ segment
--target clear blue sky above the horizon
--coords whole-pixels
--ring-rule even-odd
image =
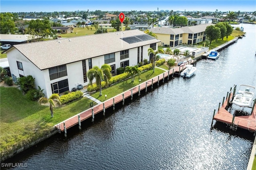
[[[256,11],[256,0],[0,0],[0,12]]]

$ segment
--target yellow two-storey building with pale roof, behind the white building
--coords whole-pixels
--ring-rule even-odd
[[[195,26],[186,26],[180,28],[172,27],[154,27],[149,31],[155,33],[161,43],[158,45],[169,45],[170,47],[176,47],[180,44],[196,44],[206,39],[206,33],[204,33],[207,26],[213,25],[212,23],[200,24]]]

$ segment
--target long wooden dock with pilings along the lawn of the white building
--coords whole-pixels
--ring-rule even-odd
[[[191,61],[188,61],[188,63],[186,64],[193,64],[193,63],[195,63],[195,61],[191,60]],[[174,76],[174,74],[176,73],[180,73],[185,68],[186,68],[186,65],[182,67],[176,66],[175,68],[168,70],[152,78],[151,80],[142,82],[141,84],[123,92],[122,94],[114,96],[113,98],[110,98],[101,104],[97,104],[96,106],[93,106],[90,109],[82,111],[81,113],[78,113],[77,115],[74,115],[73,117],[70,117],[69,119],[66,119],[65,121],[58,123],[57,125],[55,125],[55,127],[57,128],[59,133],[64,132],[66,136],[66,133],[67,133],[66,130],[69,129],[70,127],[73,127],[74,125],[78,125],[80,129],[82,121],[89,118],[91,118],[92,121],[94,121],[94,115],[96,115],[97,113],[103,112],[103,115],[105,115],[105,110],[107,108],[112,107],[114,110],[115,104],[118,104],[120,102],[122,102],[122,104],[124,105],[124,102],[127,98],[132,99],[134,94],[138,94],[138,96],[140,96],[140,93],[142,90],[144,92],[147,92],[148,88],[153,89],[154,84],[157,84],[159,86],[160,81],[164,82],[164,80],[169,80],[171,76]]]

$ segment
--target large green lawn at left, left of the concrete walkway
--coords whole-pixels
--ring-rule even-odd
[[[57,123],[90,108],[88,98],[55,107],[51,117],[48,106],[40,106],[22,95],[18,88],[0,87],[1,156],[44,136]],[[96,104],[96,103],[94,103]]]

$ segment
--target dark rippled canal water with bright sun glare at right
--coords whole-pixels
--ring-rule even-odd
[[[214,109],[234,84],[256,85],[256,25],[243,27],[246,37],[218,60],[198,61],[191,78],[173,78],[81,131],[68,131],[67,139],[56,135],[7,161],[33,170],[246,169],[253,133],[215,121],[211,127]]]

